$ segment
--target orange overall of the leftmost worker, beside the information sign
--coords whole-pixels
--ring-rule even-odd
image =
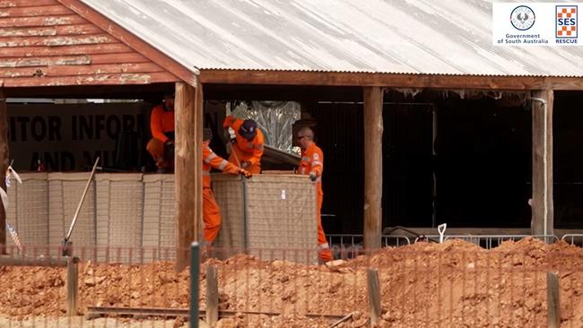
[[[170,163],[164,160],[164,142],[168,140],[166,133],[174,132],[174,111],[164,110],[163,106],[152,108],[150,117],[152,139],[146,145],[146,150],[152,155],[158,168],[169,168]]]

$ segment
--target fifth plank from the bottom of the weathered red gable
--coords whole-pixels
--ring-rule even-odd
[[[63,37],[0,38],[0,47],[70,46],[95,43],[117,43],[109,34],[93,34]]]

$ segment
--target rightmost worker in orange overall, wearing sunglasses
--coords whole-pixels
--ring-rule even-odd
[[[302,127],[298,132],[298,142],[301,147],[301,160],[298,174],[308,175],[309,179],[316,182],[318,190],[318,211],[316,221],[318,222],[318,251],[320,261],[326,263],[332,261],[332,252],[326,240],[324,229],[322,229],[322,172],[324,171],[324,153],[314,142],[314,132],[308,126]]]

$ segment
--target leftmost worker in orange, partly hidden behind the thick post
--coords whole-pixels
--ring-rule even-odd
[[[159,173],[174,168],[174,93],[164,95],[164,103],[152,108],[150,117],[152,139],[146,150],[152,155]]]

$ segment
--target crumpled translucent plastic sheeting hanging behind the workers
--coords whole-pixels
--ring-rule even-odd
[[[251,118],[265,134],[265,143],[282,151],[292,152],[292,125],[300,119],[300,104],[294,101],[241,101],[227,114],[242,119]]]

